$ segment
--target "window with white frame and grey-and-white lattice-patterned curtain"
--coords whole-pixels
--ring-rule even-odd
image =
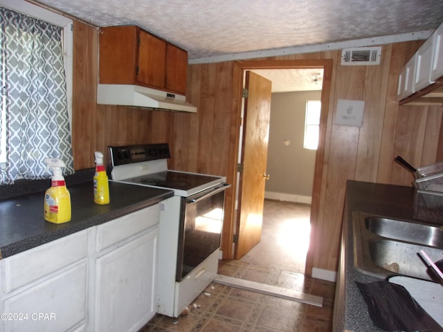
[[[64,162],[67,160],[67,163],[73,166],[71,152],[73,32],[71,19],[24,0],[0,0],[0,9],[3,19],[0,30],[0,183],[13,183],[17,177],[15,175],[11,177],[11,174],[17,172],[18,178],[41,178],[43,158],[60,158],[71,154],[64,158]],[[47,77],[43,76],[44,81],[37,80],[36,83],[30,84],[35,82],[34,77],[40,78],[42,74],[47,73]],[[30,85],[33,86],[29,87]],[[62,95],[60,95],[61,87]],[[63,118],[66,120],[60,120],[60,112],[65,114]],[[26,120],[33,117],[29,120],[28,127],[21,125],[20,132],[10,129],[16,128],[17,123],[28,123],[22,119],[24,117]],[[35,130],[37,122],[42,127]],[[51,136],[52,131],[57,131],[57,138]],[[48,142],[45,146],[40,145],[39,149],[26,145],[26,148],[21,147],[21,151],[17,151],[17,145],[23,145],[24,140],[21,140],[21,137],[24,136],[26,136],[24,140],[37,142],[48,138]],[[12,151],[14,149],[15,151]],[[68,149],[69,152],[66,153],[65,150]],[[62,152],[56,155],[53,151]],[[12,154],[25,158],[17,160],[11,157]],[[37,174],[20,176],[21,172],[27,174],[28,169],[35,167],[39,168]],[[73,168],[70,168],[68,172],[72,173]]]

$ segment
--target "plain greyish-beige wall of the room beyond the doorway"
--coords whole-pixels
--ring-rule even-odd
[[[303,148],[305,109],[307,100],[320,96],[321,91],[272,94],[266,198],[311,203],[316,151]]]

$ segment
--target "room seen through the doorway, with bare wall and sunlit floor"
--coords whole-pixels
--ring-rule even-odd
[[[320,100],[323,69],[260,69],[272,82],[262,239],[241,261],[305,273],[316,150],[304,149],[305,105]],[[294,203],[298,202],[298,203]]]

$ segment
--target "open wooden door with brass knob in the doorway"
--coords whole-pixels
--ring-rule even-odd
[[[244,101],[243,138],[237,210],[238,241],[235,259],[260,242],[268,153],[271,81],[246,71],[248,96]]]

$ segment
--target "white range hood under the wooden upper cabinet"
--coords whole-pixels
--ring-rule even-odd
[[[197,112],[197,107],[186,102],[184,95],[131,84],[98,84],[97,104]]]

